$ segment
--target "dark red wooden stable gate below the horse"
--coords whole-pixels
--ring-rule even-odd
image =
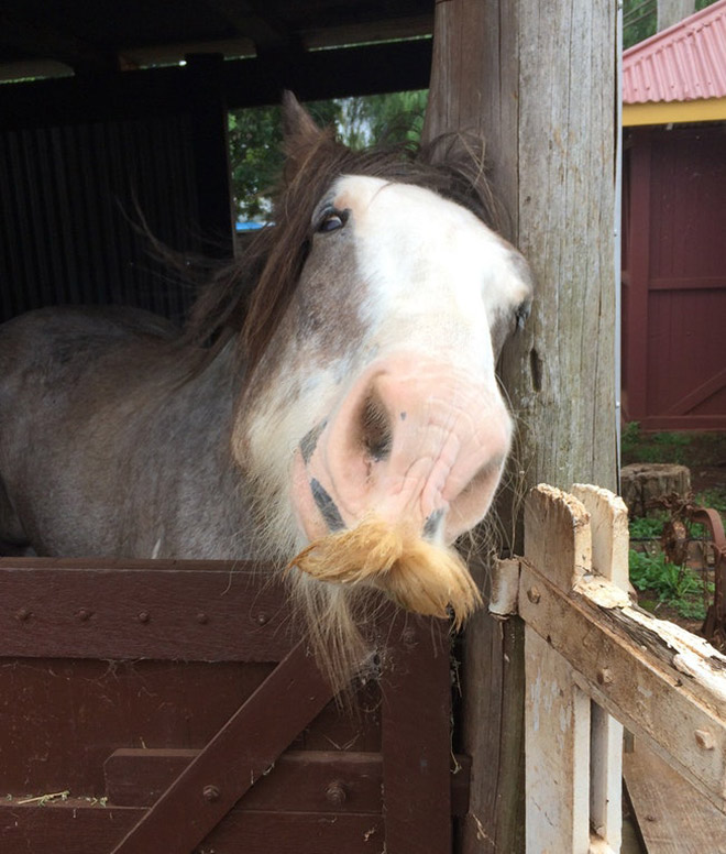
[[[0,560],[1,851],[450,854],[447,625],[383,614],[345,711],[268,578]]]

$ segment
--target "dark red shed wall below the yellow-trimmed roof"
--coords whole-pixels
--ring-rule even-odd
[[[626,419],[726,430],[726,123],[630,131],[623,226]]]

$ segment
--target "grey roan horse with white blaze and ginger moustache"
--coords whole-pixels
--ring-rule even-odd
[[[509,452],[495,366],[532,284],[471,146],[351,151],[290,94],[283,119],[273,225],[183,330],[120,307],[0,328],[0,544],[271,560],[344,682],[381,591],[457,625],[480,603],[452,544]]]

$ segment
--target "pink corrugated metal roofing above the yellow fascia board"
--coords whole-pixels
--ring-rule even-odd
[[[726,0],[623,54],[623,102],[726,97]]]

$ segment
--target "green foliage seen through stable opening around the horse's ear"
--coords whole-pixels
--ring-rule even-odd
[[[321,127],[334,125],[339,139],[351,147],[387,142],[416,142],[420,138],[427,91],[394,92],[306,103]],[[279,107],[233,110],[229,113],[232,193],[238,216],[264,221],[270,196],[283,165]]]

